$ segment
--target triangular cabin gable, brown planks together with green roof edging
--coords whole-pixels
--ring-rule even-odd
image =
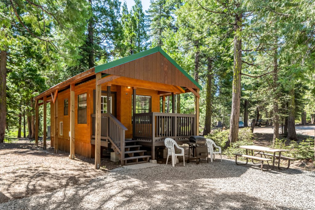
[[[149,62],[146,61],[146,59],[143,59],[146,56],[148,56],[148,58],[151,59]],[[151,61],[153,63],[150,63]],[[139,66],[139,63],[140,63],[140,66]],[[153,66],[154,63],[156,63],[156,66]],[[135,66],[137,66],[138,68]],[[127,72],[124,72],[125,68],[129,69],[129,74]],[[144,69],[146,69],[146,71],[141,71]],[[151,75],[147,75],[148,74],[147,72],[152,73],[153,70],[159,71],[159,69],[160,69],[161,74],[153,72],[154,73],[153,77]],[[139,72],[135,72],[135,73],[131,72],[135,70],[137,71],[139,70]],[[180,71],[181,73],[177,72],[176,70]],[[178,65],[159,46],[148,49],[140,53],[129,55],[127,57],[124,57],[118,60],[114,60],[106,64],[95,66],[95,73],[98,73],[101,71],[104,71],[104,73],[108,73],[108,74],[131,77],[135,79],[173,84],[173,85],[178,85],[178,86],[187,87],[187,88],[190,87],[190,88],[202,89],[201,85],[198,84],[198,82],[196,82],[184,69],[180,67],[180,65]],[[157,76],[157,77],[154,77],[154,76]]]

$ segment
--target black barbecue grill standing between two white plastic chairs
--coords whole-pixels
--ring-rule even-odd
[[[206,139],[203,136],[191,136],[189,137],[189,142],[183,143],[189,145],[187,163],[196,161],[196,164],[199,164],[201,158],[207,158],[208,162],[208,147]],[[190,150],[192,150],[192,158],[190,158]]]

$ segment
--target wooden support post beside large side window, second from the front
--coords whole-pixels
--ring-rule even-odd
[[[70,159],[74,159],[74,83],[70,85]]]

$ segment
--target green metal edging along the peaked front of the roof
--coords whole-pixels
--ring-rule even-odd
[[[171,62],[178,70],[180,70],[190,81],[192,81],[200,90],[202,89],[201,85],[196,82],[196,80],[194,80],[182,67],[180,67],[180,65],[178,65],[175,60],[173,60],[167,53],[164,52],[164,50],[160,47],[157,46],[155,48],[151,48],[145,51],[142,51],[140,53],[136,53],[133,55],[129,55],[127,57],[118,59],[118,60],[114,60],[111,61],[109,63],[106,64],[102,64],[102,65],[98,65],[95,66],[95,73],[98,73],[100,71],[104,71],[106,69],[115,67],[117,65],[122,65],[124,63],[128,63],[130,61],[145,57],[147,55],[153,54],[153,53],[157,53],[160,52],[167,60],[169,60],[169,62]]]

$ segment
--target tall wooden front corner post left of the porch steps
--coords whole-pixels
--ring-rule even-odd
[[[96,88],[95,88],[95,169],[100,169],[100,132],[101,132],[101,85],[97,82],[101,79],[101,72],[96,74]],[[108,105],[108,104],[107,104]]]

